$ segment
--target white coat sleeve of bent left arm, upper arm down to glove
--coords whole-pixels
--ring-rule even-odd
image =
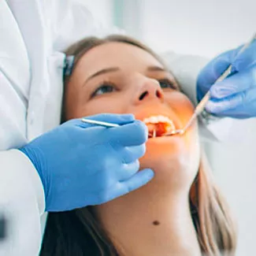
[[[0,213],[7,217],[1,256],[36,256],[41,243],[43,185],[32,162],[20,150],[27,142],[26,117],[30,66],[17,20],[0,1]]]

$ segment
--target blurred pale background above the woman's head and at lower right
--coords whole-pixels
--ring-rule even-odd
[[[255,0],[80,0],[106,26],[123,28],[154,50],[213,58],[256,31]],[[256,124],[236,121],[239,143],[205,143],[217,184],[238,219],[237,256],[254,255]],[[255,131],[255,132],[254,132]]]

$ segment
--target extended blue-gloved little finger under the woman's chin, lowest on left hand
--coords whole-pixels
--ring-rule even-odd
[[[151,169],[143,169],[139,171],[131,179],[119,182],[116,186],[109,188],[108,191],[102,191],[97,196],[98,202],[109,202],[114,198],[118,198],[122,195],[126,195],[135,189],[147,184],[154,177],[154,172]]]

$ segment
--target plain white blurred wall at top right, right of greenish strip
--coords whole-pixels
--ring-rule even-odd
[[[143,39],[182,54],[213,56],[256,30],[254,0],[141,0]]]

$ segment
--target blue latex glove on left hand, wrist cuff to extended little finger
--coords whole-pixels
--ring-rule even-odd
[[[68,121],[20,150],[30,158],[43,182],[46,211],[97,205],[147,184],[154,173],[140,172],[147,126],[131,114],[91,118],[121,124],[104,128]],[[137,173],[138,172],[138,173]]]

